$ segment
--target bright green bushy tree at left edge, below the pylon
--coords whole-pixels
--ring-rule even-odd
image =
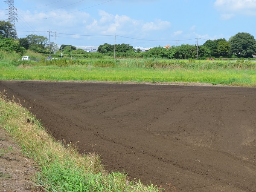
[[[0,36],[0,49],[6,52],[17,52],[20,54],[23,54],[26,51],[24,47],[20,46],[19,40],[11,37],[3,38],[3,36]]]

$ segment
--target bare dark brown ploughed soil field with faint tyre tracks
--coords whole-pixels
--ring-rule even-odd
[[[1,81],[56,138],[179,192],[256,191],[256,88]]]

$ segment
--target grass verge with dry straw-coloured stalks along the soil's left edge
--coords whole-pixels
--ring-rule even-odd
[[[79,155],[70,143],[56,142],[41,122],[13,100],[0,96],[0,128],[21,146],[23,154],[37,163],[34,181],[49,192],[158,192],[156,186],[127,181],[120,172],[106,172],[99,156]],[[65,146],[65,147],[64,147]],[[11,149],[10,149],[11,150]],[[128,182],[128,183],[127,183]]]

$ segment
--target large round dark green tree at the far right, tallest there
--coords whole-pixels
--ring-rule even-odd
[[[237,57],[253,57],[256,53],[256,40],[253,35],[239,32],[229,39],[230,50]]]

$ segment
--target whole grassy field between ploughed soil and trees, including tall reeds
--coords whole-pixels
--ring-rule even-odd
[[[0,80],[191,82],[256,86],[256,62],[158,59],[0,62]]]

